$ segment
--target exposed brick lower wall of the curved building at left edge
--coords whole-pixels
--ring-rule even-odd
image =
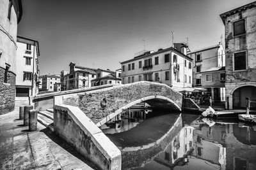
[[[4,69],[0,67],[0,115],[14,110],[16,93],[15,79],[15,74],[9,72],[8,83],[4,83]]]

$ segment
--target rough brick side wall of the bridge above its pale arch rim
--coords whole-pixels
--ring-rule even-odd
[[[113,87],[113,89],[90,94],[79,94],[79,108],[87,117],[97,123],[107,115],[114,113],[116,110],[133,101],[143,99],[143,97],[147,96],[155,96],[156,94],[157,96],[164,96],[171,99],[181,108],[182,94],[175,92],[166,85],[148,81],[120,85]]]

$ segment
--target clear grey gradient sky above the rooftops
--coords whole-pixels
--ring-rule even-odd
[[[39,42],[40,75],[68,64],[116,70],[144,50],[225,43],[220,14],[252,0],[22,0],[18,35]],[[188,38],[188,41],[187,41]],[[145,41],[143,41],[143,39]],[[144,43],[145,42],[145,43]]]

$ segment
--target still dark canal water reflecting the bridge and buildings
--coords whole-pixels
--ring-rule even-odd
[[[256,169],[256,126],[155,112],[103,130],[122,152],[122,169]]]

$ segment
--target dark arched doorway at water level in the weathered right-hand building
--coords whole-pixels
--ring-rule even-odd
[[[250,101],[256,102],[256,87],[255,86],[243,86],[239,87],[233,92],[233,108],[241,109],[246,108],[245,97],[250,97]],[[256,108],[256,103],[251,103],[250,108]]]

